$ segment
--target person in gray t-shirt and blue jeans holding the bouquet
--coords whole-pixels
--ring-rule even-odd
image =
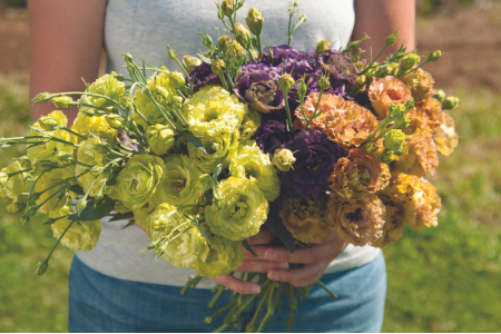
[[[239,11],[242,21],[250,7],[264,12],[264,41],[287,42],[284,27],[288,24],[288,0],[247,0]],[[92,82],[98,76],[101,49],[107,53],[107,71],[127,75],[121,53],[144,58],[154,66],[166,65],[179,70],[169,60],[168,43],[178,55],[196,56],[202,37],[195,31],[222,27],[212,0],[29,0],[31,33],[30,96],[40,91],[82,91],[81,78]],[[299,6],[307,21],[292,41],[299,50],[310,50],[318,40],[330,40],[333,49],[345,47],[350,39],[367,33],[362,45],[366,58],[376,55],[385,37],[400,28],[396,43],[383,57],[405,41],[414,46],[414,0],[310,0]],[[49,105],[32,106],[35,119],[52,111]],[[65,110],[69,122],[78,110]],[[179,291],[189,268],[176,268],[155,261],[139,250],[148,238],[137,227],[121,230],[119,223],[104,222],[97,247],[77,252],[70,272],[70,332],[205,332],[220,326],[217,318],[203,323],[210,314],[214,281],[244,294],[254,294],[259,286],[227,275],[214,281],[204,278],[185,296]],[[271,246],[273,234],[263,228],[249,239],[258,255],[246,252],[238,271],[267,273],[268,278],[306,286],[322,282],[338,295],[333,299],[315,286],[307,299],[299,299],[293,331],[298,332],[379,332],[382,327],[386,276],[380,249],[346,245],[334,232],[317,239],[312,248],[293,254]],[[304,264],[288,269],[289,263]],[[228,302],[230,293],[217,305]],[[287,303],[284,303],[287,311]],[[249,306],[242,325],[255,310]],[[285,330],[286,312],[275,315],[267,331]]]

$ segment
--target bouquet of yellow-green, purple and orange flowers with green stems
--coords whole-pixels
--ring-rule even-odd
[[[355,246],[381,248],[402,237],[404,222],[416,230],[436,226],[440,197],[423,177],[433,174],[438,153],[450,155],[458,145],[444,111],[458,99],[436,90],[422,67],[442,52],[421,62],[402,46],[377,62],[399,31],[367,62],[358,48],[365,38],[341,50],[322,40],[299,51],[289,45],[304,14],[289,24],[288,45],[263,48],[262,13],[252,8],[246,28],[235,23],[243,1],[216,6],[226,35],[213,42],[200,33],[207,51],[180,61],[167,46],[180,71],[138,65],[126,53],[128,78],[112,72],[84,92],[35,97],[57,109],[77,106],[71,127],[56,110],[29,136],[0,139],[1,147],[28,145],[26,156],[1,170],[0,198],[11,213],[23,212],[22,224],[47,215],[57,238],[37,277],[58,244],[92,249],[105,216],[146,229],[145,252],[194,268],[199,275],[183,294],[202,276],[233,273],[243,247],[254,254],[246,239],[262,226],[289,252],[331,229]],[[297,1],[291,22],[296,12]],[[229,310],[224,331],[261,297],[247,325],[261,332],[284,294],[289,331],[297,298],[311,286],[258,273],[242,277],[257,282],[261,294],[235,293],[205,322]],[[224,289],[215,287],[209,307]]]

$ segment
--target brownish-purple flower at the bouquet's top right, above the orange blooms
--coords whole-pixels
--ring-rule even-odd
[[[322,68],[331,73],[335,80],[345,84],[355,85],[355,78],[358,76],[358,69],[353,65],[350,58],[341,52],[327,50],[318,55],[318,62]]]

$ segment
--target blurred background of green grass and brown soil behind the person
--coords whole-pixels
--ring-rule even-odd
[[[27,131],[29,33],[24,1],[0,0],[0,136]],[[384,332],[501,331],[501,4],[418,0],[420,52],[436,87],[460,97],[451,114],[460,145],[430,179],[442,197],[439,226],[384,249]],[[21,149],[0,149],[0,167]],[[0,203],[0,332],[66,332],[72,253],[58,248],[47,274],[31,273],[52,246],[51,229]]]

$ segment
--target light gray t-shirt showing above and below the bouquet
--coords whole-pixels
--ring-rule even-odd
[[[263,42],[272,46],[287,42],[284,27],[288,24],[288,0],[247,0],[239,11],[238,20],[244,22],[250,7],[264,13]],[[299,12],[307,16],[295,32],[292,46],[310,51],[318,40],[326,39],[337,49],[346,46],[352,35],[355,13],[353,0],[308,0],[299,6]],[[168,43],[184,55],[196,56],[204,49],[202,36],[195,31],[207,31],[217,40],[223,24],[217,19],[213,0],[108,0],[105,21],[105,47],[108,55],[107,70],[127,75],[121,53],[128,52],[139,61],[144,58],[154,66],[165,65],[179,70],[167,55]],[[297,18],[297,16],[296,16]],[[121,229],[127,222],[102,220],[102,232],[95,249],[76,252],[86,265],[105,275],[121,279],[181,286],[191,268],[177,268],[164,259],[141,254],[149,239],[137,227]],[[374,259],[380,249],[355,247],[346,249],[330,265],[326,272],[338,272],[364,265]],[[214,281],[204,278],[198,287],[209,288]]]

